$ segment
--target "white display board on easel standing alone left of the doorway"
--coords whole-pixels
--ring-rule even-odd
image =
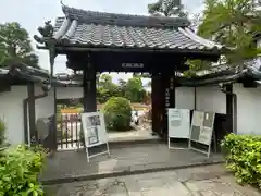
[[[100,112],[82,113],[82,124],[84,131],[87,161],[92,157],[108,154],[110,149],[108,144],[108,133],[105,130],[104,115]],[[89,149],[92,147],[105,145],[105,150],[90,155]]]

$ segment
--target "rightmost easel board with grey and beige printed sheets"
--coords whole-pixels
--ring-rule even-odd
[[[214,112],[194,111],[189,134],[189,149],[206,154],[208,157],[210,156],[211,143],[212,138],[214,137],[213,134],[214,119],[215,119]],[[215,143],[215,138],[213,138],[213,140]],[[192,147],[191,142],[208,146],[208,150],[204,151]]]

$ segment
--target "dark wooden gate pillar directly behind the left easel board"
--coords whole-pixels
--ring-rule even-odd
[[[96,69],[90,62],[90,56],[84,68],[84,111],[85,112],[96,112]]]

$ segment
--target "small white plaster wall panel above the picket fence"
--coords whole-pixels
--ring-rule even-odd
[[[57,99],[82,98],[84,97],[84,89],[82,87],[58,87]]]

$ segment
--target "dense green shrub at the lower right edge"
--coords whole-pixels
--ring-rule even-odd
[[[235,173],[238,183],[261,188],[261,137],[227,135],[222,142],[227,168]]]

